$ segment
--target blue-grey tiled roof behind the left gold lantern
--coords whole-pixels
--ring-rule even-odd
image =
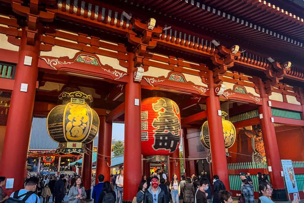
[[[98,145],[98,134],[94,139],[94,147]],[[47,133],[47,118],[33,118],[29,149],[56,149],[58,143],[53,141]]]

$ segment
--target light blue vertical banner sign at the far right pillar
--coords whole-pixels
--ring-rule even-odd
[[[284,172],[284,178],[288,193],[298,193],[297,182],[295,181],[295,172],[293,171],[291,160],[281,160],[282,168]]]

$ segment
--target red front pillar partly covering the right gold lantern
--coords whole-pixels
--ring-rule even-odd
[[[219,97],[214,93],[213,72],[208,72],[209,76],[209,97],[207,97],[207,117],[209,126],[210,148],[212,158],[212,174],[218,175],[229,190],[228,167],[224,144],[224,134],[221,115]]]

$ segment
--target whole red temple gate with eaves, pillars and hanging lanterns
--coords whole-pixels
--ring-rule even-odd
[[[31,167],[81,165],[89,193],[92,172],[107,181],[123,166],[123,201],[131,202],[141,175],[168,163],[169,179],[216,174],[234,197],[241,172],[261,172],[273,200],[304,198],[303,1],[0,4],[0,176],[14,179],[7,194]],[[112,123],[125,126],[117,162]]]

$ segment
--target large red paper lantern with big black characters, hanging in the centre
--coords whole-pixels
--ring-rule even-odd
[[[168,98],[149,97],[141,102],[141,150],[144,156],[170,155],[181,141],[178,105]]]

